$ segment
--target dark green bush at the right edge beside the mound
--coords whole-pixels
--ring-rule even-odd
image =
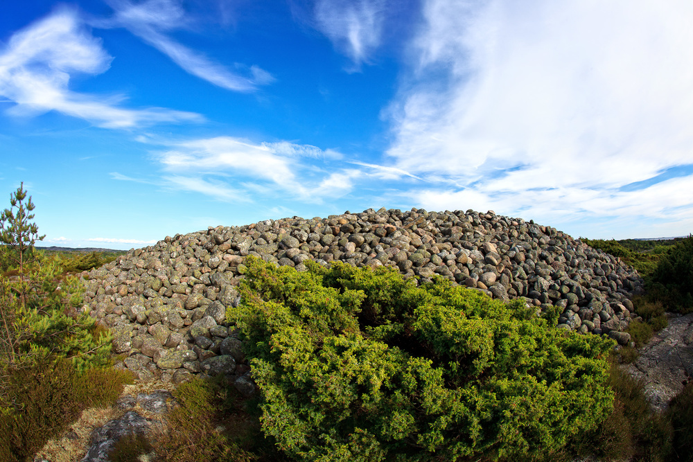
[[[681,240],[662,254],[649,290],[667,310],[693,310],[693,236]]]

